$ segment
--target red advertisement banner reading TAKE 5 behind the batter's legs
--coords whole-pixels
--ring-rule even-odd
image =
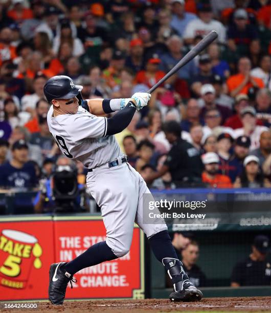
[[[48,299],[50,264],[68,262],[105,240],[99,217],[75,218],[0,222],[0,301]],[[76,273],[66,299],[144,298],[143,248],[135,227],[130,252]]]

